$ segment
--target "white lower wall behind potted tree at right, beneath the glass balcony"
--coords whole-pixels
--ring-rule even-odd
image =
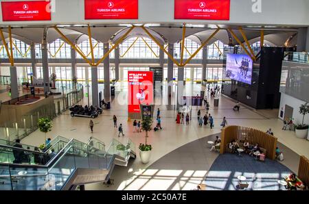
[[[305,101],[301,101],[299,99],[296,99],[294,97],[290,97],[289,95],[287,94],[284,94],[284,93],[281,93],[281,100],[280,100],[280,107],[279,107],[279,118],[280,117],[280,112],[281,110],[283,110],[285,112],[285,107],[286,105],[289,105],[290,107],[293,107],[293,122],[295,124],[300,124],[301,121],[303,120],[303,115],[299,114],[299,106],[301,104],[305,104],[306,102]],[[284,114],[283,114],[284,116]],[[282,120],[284,120],[284,118],[281,118]],[[304,123],[305,124],[309,124],[309,114],[306,114],[305,116],[305,120],[304,120]]]

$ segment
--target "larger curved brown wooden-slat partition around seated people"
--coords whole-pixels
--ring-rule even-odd
[[[245,139],[249,141],[249,144],[258,143],[260,147],[266,149],[266,157],[275,160],[277,138],[251,127],[227,126],[223,128],[221,132],[220,154],[225,153],[227,144],[232,140],[243,141]]]

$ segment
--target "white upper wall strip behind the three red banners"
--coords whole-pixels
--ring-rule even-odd
[[[3,0],[4,1],[4,0]],[[16,1],[16,0],[5,0]],[[93,23],[200,23],[236,25],[309,25],[308,0],[257,0],[262,12],[253,12],[251,0],[231,0],[230,21],[174,20],[174,0],[139,0],[138,20],[84,20],[84,0],[54,0],[52,21],[2,22],[3,25]],[[190,1],[190,0],[188,0]],[[218,0],[220,1],[220,0]],[[1,10],[0,10],[1,12]]]

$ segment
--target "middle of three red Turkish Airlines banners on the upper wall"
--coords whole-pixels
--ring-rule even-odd
[[[138,0],[84,0],[84,18],[138,19]]]

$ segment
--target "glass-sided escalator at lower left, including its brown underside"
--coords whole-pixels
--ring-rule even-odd
[[[108,181],[115,165],[127,166],[128,160],[136,157],[131,140],[124,145],[113,139],[105,149],[104,142],[95,138],[84,143],[59,137],[45,152],[34,151],[33,146],[21,149],[3,143],[0,142],[0,190],[75,190],[87,183]],[[54,156],[48,158],[52,149]],[[22,159],[16,162],[16,156]],[[39,157],[47,160],[40,164]]]

